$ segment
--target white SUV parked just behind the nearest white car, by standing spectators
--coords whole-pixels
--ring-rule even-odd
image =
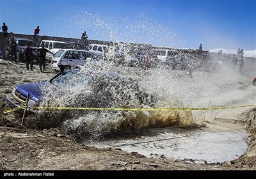
[[[60,42],[60,41],[54,41],[54,40],[42,40],[40,43],[40,48],[41,48],[42,44],[44,44],[45,49],[48,49],[50,52],[52,52],[54,54],[59,49],[71,49],[69,43],[67,43],[67,42]],[[52,54],[47,52],[45,58],[49,59],[51,61]]]

